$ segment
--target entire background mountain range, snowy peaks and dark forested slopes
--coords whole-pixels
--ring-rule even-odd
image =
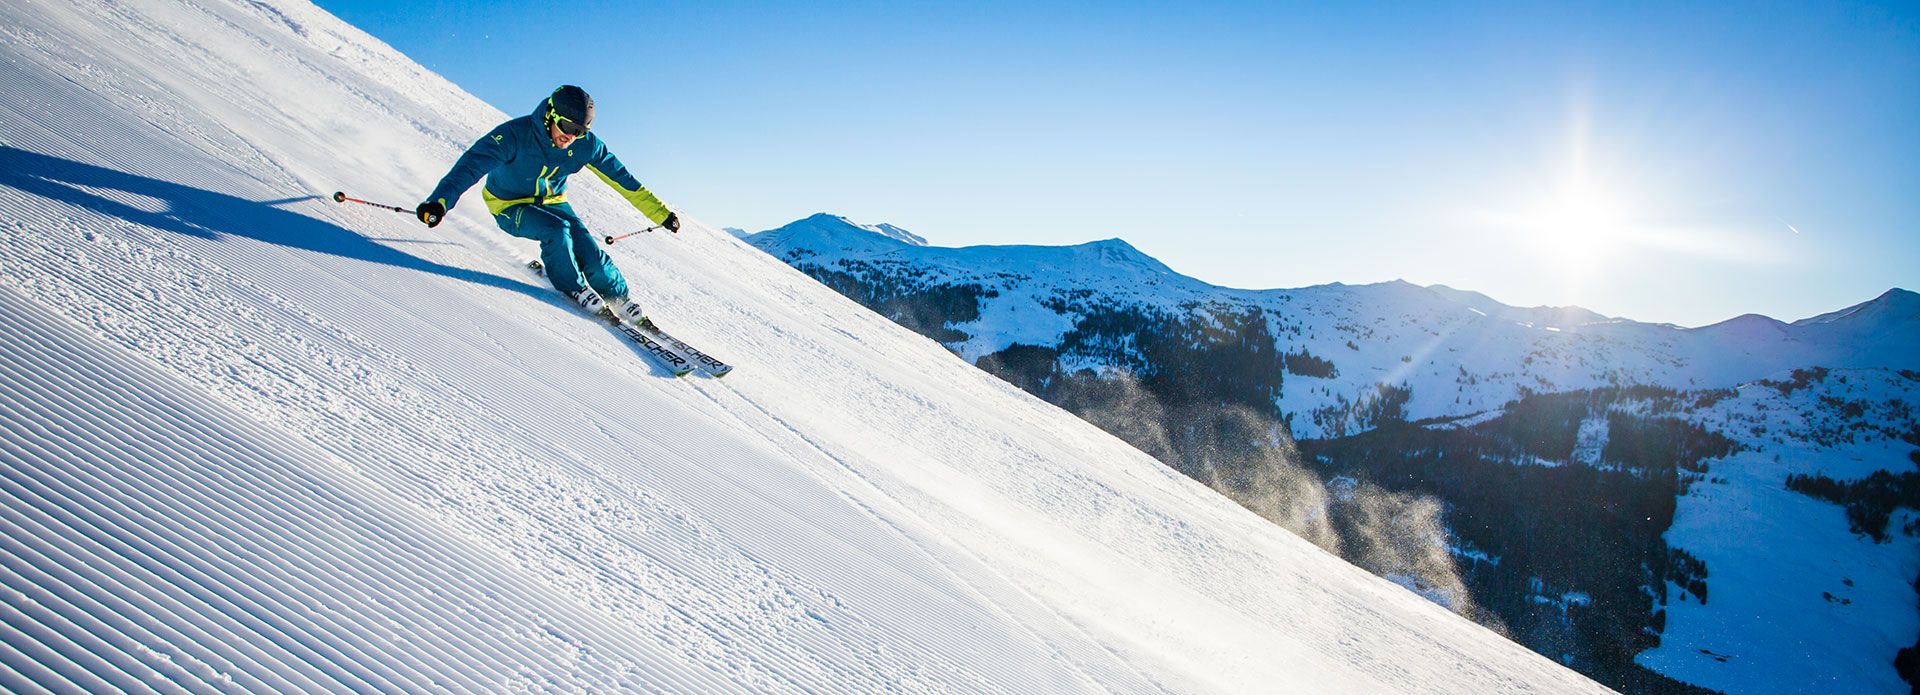
[[[1622,689],[1897,693],[1905,647],[1920,678],[1912,292],[1680,328],[1407,282],[1219,288],[1121,240],[929,248],[816,215],[749,242]],[[1269,430],[1304,453],[1242,443]],[[1342,528],[1423,515],[1450,561]]]

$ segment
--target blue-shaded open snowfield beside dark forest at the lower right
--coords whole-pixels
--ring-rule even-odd
[[[1636,659],[1728,693],[1905,693],[1887,668],[1914,645],[1920,543],[1895,509],[1889,541],[1849,530],[1836,503],[1788,490],[1789,474],[1859,480],[1910,470],[1912,380],[1884,369],[1832,371],[1805,388],[1741,386],[1695,420],[1741,443],[1680,495],[1668,543],[1713,574],[1709,597],[1676,589],[1663,643]],[[1843,403],[1859,407],[1841,415]]]

